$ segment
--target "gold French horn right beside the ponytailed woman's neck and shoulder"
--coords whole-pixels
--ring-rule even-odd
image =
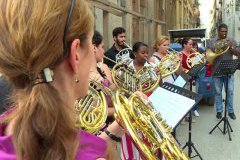
[[[105,92],[106,89],[101,84],[90,82],[88,95],[75,102],[76,127],[95,134],[105,125],[108,115]]]

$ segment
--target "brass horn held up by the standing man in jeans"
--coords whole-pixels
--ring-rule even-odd
[[[214,44],[215,50],[207,49],[206,56],[209,64],[213,64],[213,61],[220,55],[223,55],[229,50],[227,39],[222,39]]]

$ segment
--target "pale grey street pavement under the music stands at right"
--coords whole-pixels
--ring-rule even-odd
[[[209,132],[219,122],[216,118],[214,106],[200,105],[200,117],[194,117],[196,123],[192,125],[192,142],[203,160],[240,160],[240,71],[235,72],[235,88],[234,88],[234,109],[237,119],[229,118],[230,125],[233,129],[231,133],[232,141],[229,141],[228,134],[223,134],[216,128],[212,134]],[[225,94],[223,93],[225,98]],[[223,130],[223,122],[219,125]],[[179,125],[176,129],[177,140],[182,147],[188,140],[188,123]],[[188,153],[188,148],[184,150]],[[191,156],[196,155],[192,152]],[[195,157],[192,159],[200,159]]]

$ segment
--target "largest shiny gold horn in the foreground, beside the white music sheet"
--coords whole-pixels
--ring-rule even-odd
[[[171,134],[171,129],[157,113],[151,103],[132,94],[126,98],[125,92],[117,90],[113,96],[116,120],[130,134],[141,155],[148,160],[157,160],[155,156],[161,150],[167,160],[189,160]],[[147,139],[147,145],[139,134]]]

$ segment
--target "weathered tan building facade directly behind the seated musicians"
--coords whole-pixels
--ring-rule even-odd
[[[113,44],[112,30],[126,29],[127,43],[152,45],[168,30],[196,28],[199,24],[196,0],[88,0],[95,14],[95,29],[104,36],[106,48]]]

